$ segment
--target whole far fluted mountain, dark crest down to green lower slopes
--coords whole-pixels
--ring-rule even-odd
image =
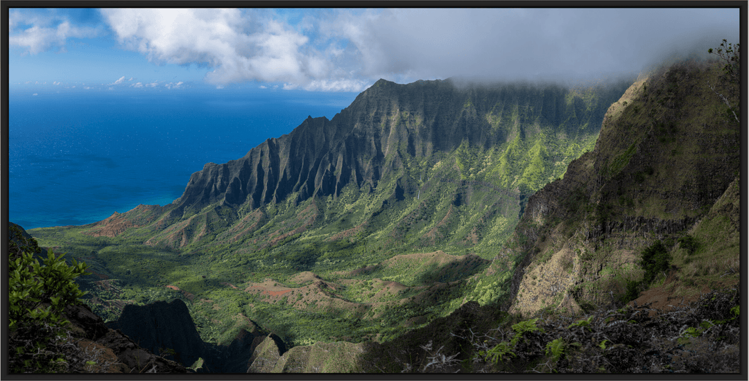
[[[303,223],[286,219],[272,224],[289,226],[270,234],[283,240],[323,221],[329,224],[330,214],[337,213],[332,209],[348,209],[310,200],[341,201],[345,189],[355,189],[353,197],[363,198],[356,213],[366,216],[342,221],[336,233],[360,229],[365,221],[372,222],[366,223],[370,230],[378,230],[392,223],[380,221],[388,214],[426,208],[417,214],[428,219],[419,222],[429,225],[428,237],[404,240],[404,226],[388,227],[383,234],[392,235],[392,242],[410,240],[419,246],[478,243],[482,234],[504,240],[525,197],[560,176],[592,144],[605,109],[625,86],[457,86],[450,80],[398,85],[380,80],[330,121],[307,118],[288,135],[267,139],[241,159],[207,163],[192,174],[174,203],[113,215],[91,225],[86,234],[118,237],[137,231],[131,235],[148,245],[175,249],[214,238],[232,243],[252,237],[273,219],[267,207],[286,207],[289,201],[300,207],[294,221]],[[432,216],[434,205],[446,198],[454,204],[452,212],[440,209],[441,214]],[[405,205],[395,207],[399,201]],[[477,209],[478,204],[493,205],[491,213],[483,206]],[[495,223],[500,216],[509,223]],[[450,226],[458,221],[471,226]],[[506,228],[482,232],[477,222]]]

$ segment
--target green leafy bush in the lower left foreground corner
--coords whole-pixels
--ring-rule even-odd
[[[85,274],[85,263],[73,260],[68,266],[63,255],[52,249],[39,263],[39,247],[22,231],[10,226],[8,250],[8,369],[10,373],[56,373],[85,368],[71,362],[79,348],[64,329],[62,312],[80,302],[85,292],[73,279]],[[76,361],[79,362],[79,361]]]

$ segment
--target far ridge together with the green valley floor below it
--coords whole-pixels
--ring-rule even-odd
[[[297,344],[386,340],[464,302],[527,197],[592,148],[628,85],[380,80],[330,121],[208,163],[173,204],[31,234],[97,265],[110,319],[179,297],[207,341],[249,318]],[[469,299],[506,295],[491,284]]]

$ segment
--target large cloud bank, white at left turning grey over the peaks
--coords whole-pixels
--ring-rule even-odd
[[[127,49],[157,64],[208,67],[217,88],[259,81],[309,91],[362,91],[379,78],[631,73],[702,36],[715,45],[739,31],[738,10],[710,8],[303,10],[296,25],[275,10],[101,13]]]

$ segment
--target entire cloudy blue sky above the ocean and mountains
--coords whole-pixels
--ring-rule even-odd
[[[577,81],[739,42],[738,8],[11,8],[9,85],[360,92],[383,78]]]

